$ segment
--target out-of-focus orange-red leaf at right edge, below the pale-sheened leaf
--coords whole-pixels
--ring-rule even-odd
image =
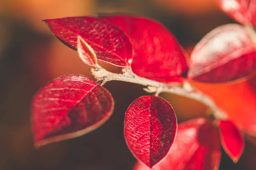
[[[256,93],[252,84],[256,77],[236,84],[205,84],[192,82],[204,94],[211,96],[233,123],[245,133],[256,136]],[[256,87],[256,86],[255,86]]]

